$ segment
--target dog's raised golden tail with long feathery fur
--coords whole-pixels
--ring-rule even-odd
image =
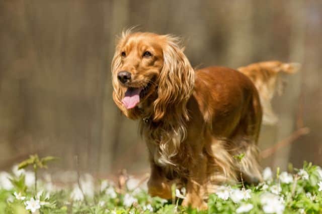
[[[276,92],[278,95],[283,93],[285,81],[282,79],[282,74],[296,73],[300,67],[299,63],[267,61],[237,68],[253,81],[258,90],[263,108],[263,124],[274,125],[278,121],[271,100]]]

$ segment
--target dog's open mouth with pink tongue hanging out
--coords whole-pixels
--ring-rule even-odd
[[[125,92],[125,96],[122,99],[122,103],[125,106],[125,108],[126,109],[134,108],[140,102],[140,99],[144,98],[150,86],[151,84],[149,83],[143,88],[133,88],[133,87],[127,88]]]

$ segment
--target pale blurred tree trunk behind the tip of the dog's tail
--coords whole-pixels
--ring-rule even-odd
[[[304,36],[305,36],[305,1],[297,0],[286,4],[285,13],[290,17],[291,35],[290,35],[290,62],[298,62],[303,64],[304,56]],[[301,93],[301,76],[303,70],[295,75],[287,76],[288,85],[281,98],[278,99],[283,103],[283,107],[279,108],[279,122],[277,140],[278,142],[285,139],[294,131],[297,120],[297,110],[299,103],[299,95]],[[274,167],[281,167],[282,170],[287,169],[290,151],[293,144],[281,148],[275,153]]]

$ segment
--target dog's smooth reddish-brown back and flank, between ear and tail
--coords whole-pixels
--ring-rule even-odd
[[[261,123],[262,111],[257,89],[247,76],[236,70],[217,66],[197,70],[194,95],[200,104],[206,104],[202,105],[201,111],[216,135],[231,136],[240,120],[249,112],[258,117],[258,121],[254,121],[259,123],[257,126]],[[256,104],[253,102],[258,105],[254,106]],[[254,124],[250,125],[254,127]],[[259,128],[250,130],[257,141]]]

